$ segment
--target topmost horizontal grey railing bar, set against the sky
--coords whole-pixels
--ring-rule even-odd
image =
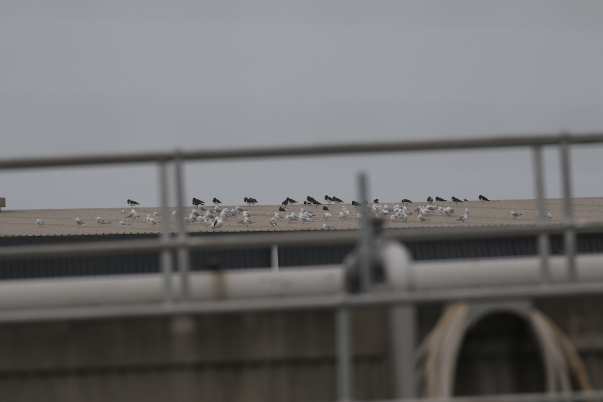
[[[0,169],[59,166],[107,165],[160,162],[166,160],[216,160],[326,154],[368,154],[372,152],[450,151],[451,149],[499,148],[531,145],[603,143],[603,133],[513,135],[497,137],[441,138],[391,142],[336,143],[327,145],[291,145],[258,148],[174,149],[172,151],[122,152],[110,154],[57,155],[54,157],[18,157],[0,159]]]

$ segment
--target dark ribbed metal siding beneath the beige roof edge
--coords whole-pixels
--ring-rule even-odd
[[[223,236],[227,233],[203,233],[192,236]],[[232,234],[232,233],[228,233]],[[262,236],[262,232],[241,232],[241,236]],[[103,234],[73,236],[0,237],[0,247],[22,244],[52,244],[63,242],[114,241],[144,239],[157,234]],[[283,232],[286,236],[286,232]],[[563,253],[563,238],[551,236],[551,252]],[[579,234],[578,253],[603,253],[603,233]],[[537,239],[507,237],[500,239],[463,239],[406,242],[413,260],[484,259],[534,256]],[[353,250],[354,244],[283,246],[279,247],[279,266],[312,266],[341,263]],[[175,256],[174,256],[175,258]],[[235,250],[201,250],[190,254],[192,271],[213,269],[266,268],[270,266],[271,250],[237,248]],[[159,253],[128,253],[107,256],[72,256],[41,259],[0,260],[0,280],[79,275],[115,275],[159,272]]]

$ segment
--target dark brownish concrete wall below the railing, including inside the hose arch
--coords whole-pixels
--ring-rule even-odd
[[[603,388],[603,296],[533,303],[569,336],[593,385]],[[419,307],[419,339],[442,310],[441,303]],[[503,334],[508,322],[484,319],[467,336],[459,393],[538,391],[534,345],[517,322]],[[389,336],[385,309],[354,311],[360,400],[394,397]],[[500,353],[505,350],[513,356]],[[521,383],[525,372],[513,368],[526,362],[534,381]],[[328,310],[0,325],[0,398],[6,401],[333,401],[335,389]]]

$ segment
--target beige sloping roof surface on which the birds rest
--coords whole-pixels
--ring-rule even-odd
[[[553,216],[551,224],[558,224],[563,218],[563,200],[562,199],[547,199],[545,214],[550,212]],[[425,203],[411,203],[408,205],[409,210],[414,210],[418,206],[426,206]],[[429,221],[420,222],[417,219],[417,212],[413,212],[408,222],[392,221],[390,216],[392,213],[383,215],[384,227],[444,227],[444,226],[483,226],[483,225],[526,225],[535,224],[537,222],[536,201],[533,199],[508,199],[496,201],[466,201],[455,205],[453,202],[434,203],[441,207],[453,207],[455,212],[452,216],[444,216],[438,210],[435,210],[434,215],[429,216]],[[370,204],[372,205],[372,204]],[[402,206],[399,202],[379,203],[379,206],[396,205]],[[347,218],[341,219],[338,217],[339,212],[346,207],[350,214]],[[206,205],[206,207],[211,207]],[[235,206],[221,206],[223,209],[232,209]],[[277,225],[273,226],[268,223],[268,220],[273,217],[274,213],[279,212],[280,206],[264,206],[256,205],[248,207],[241,206],[251,212],[250,217],[253,223],[247,226],[238,223],[242,219],[239,213],[234,218],[228,218],[224,221],[221,231],[258,231],[258,230],[320,230],[323,224],[329,224],[336,229],[358,228],[359,220],[356,218],[356,213],[361,209],[353,207],[351,204],[330,204],[331,218],[323,218],[322,206],[307,206],[303,204],[295,204],[286,206],[288,212],[280,212],[282,216],[288,213],[299,213],[301,208],[314,213],[312,222],[303,223],[301,221],[286,222],[285,219],[279,219]],[[603,222],[603,198],[574,198],[572,199],[573,215],[576,221],[581,223]],[[469,217],[465,222],[457,221],[459,216],[463,215],[465,209],[469,209]],[[193,206],[186,207],[186,213],[191,213]],[[0,211],[0,236],[36,236],[36,235],[55,235],[55,234],[107,234],[107,233],[156,233],[161,230],[161,225],[153,225],[147,222],[147,214],[162,221],[169,219],[171,230],[177,231],[177,217],[169,215],[154,216],[154,212],[159,212],[159,207],[140,207],[136,208],[140,218],[125,218],[125,214],[121,209],[115,208],[94,208],[94,209],[36,209],[36,210],[12,210],[3,208]],[[174,208],[170,208],[170,211]],[[125,208],[126,213],[130,212],[130,208]],[[519,212],[517,218],[510,216],[510,212]],[[100,217],[110,224],[101,225],[96,222],[96,218]],[[75,223],[75,218],[80,218],[85,222],[84,225],[78,226]],[[37,225],[36,219],[42,219],[43,225]],[[119,225],[119,221],[123,220],[131,223],[129,226]],[[200,222],[186,224],[186,231],[217,231],[212,226],[206,227]]]

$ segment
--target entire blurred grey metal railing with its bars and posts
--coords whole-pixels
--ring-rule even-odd
[[[603,293],[603,283],[578,283],[576,270],[576,233],[582,231],[603,231],[601,224],[577,225],[573,220],[571,193],[570,193],[570,158],[569,148],[575,144],[603,143],[603,133],[583,133],[583,134],[549,134],[549,135],[522,135],[522,136],[499,136],[484,138],[466,138],[466,139],[441,139],[441,140],[421,140],[421,141],[400,141],[400,142],[380,142],[380,143],[352,143],[347,145],[317,145],[317,146],[284,146],[284,147],[265,147],[265,148],[244,148],[244,149],[213,149],[213,150],[189,150],[174,149],[165,152],[135,152],[124,154],[90,154],[90,155],[64,155],[56,157],[31,157],[0,160],[0,171],[12,169],[36,169],[48,167],[66,167],[66,166],[84,166],[84,165],[115,165],[123,163],[156,163],[159,167],[159,190],[162,204],[162,213],[168,214],[168,167],[174,166],[174,183],[176,202],[180,216],[184,216],[185,203],[183,200],[183,163],[194,160],[226,160],[226,159],[255,159],[266,157],[289,157],[289,156],[315,156],[315,155],[333,155],[333,154],[369,154],[369,153],[392,153],[392,152],[417,152],[417,151],[450,151],[459,149],[476,148],[508,148],[520,147],[532,150],[532,160],[534,162],[534,180],[537,195],[537,204],[541,211],[545,210],[544,200],[544,180],[542,167],[542,148],[543,146],[554,145],[560,149],[561,162],[561,187],[563,189],[564,199],[564,220],[563,224],[552,227],[546,225],[545,214],[541,213],[537,225],[531,227],[505,227],[493,228],[482,227],[472,228],[471,232],[466,228],[430,228],[429,230],[406,231],[402,236],[417,236],[426,239],[444,239],[450,236],[524,236],[536,234],[538,236],[538,253],[541,266],[541,283],[537,285],[525,286],[501,286],[488,289],[438,289],[432,291],[412,291],[391,294],[371,293],[370,274],[368,265],[371,262],[370,254],[362,254],[362,278],[363,286],[361,294],[358,295],[332,295],[324,297],[291,297],[279,299],[274,303],[273,299],[256,300],[223,300],[223,301],[191,301],[189,295],[189,251],[203,248],[234,248],[234,247],[265,247],[273,244],[286,243],[320,243],[325,240],[335,242],[349,242],[350,240],[360,240],[361,249],[370,251],[370,242],[373,241],[368,228],[368,221],[359,233],[292,233],[291,236],[278,236],[278,234],[268,234],[254,238],[246,236],[221,236],[219,239],[213,239],[210,236],[188,237],[186,236],[185,225],[182,219],[179,219],[178,233],[176,236],[169,234],[169,222],[163,219],[162,234],[157,239],[148,240],[130,240],[122,242],[90,242],[86,244],[63,244],[63,245],[39,245],[24,247],[4,247],[0,248],[0,259],[22,256],[66,256],[71,253],[78,254],[103,254],[119,253],[142,250],[160,250],[160,265],[163,275],[163,303],[160,305],[130,305],[130,306],[97,306],[97,307],[73,307],[60,309],[45,309],[43,312],[38,310],[19,310],[0,312],[2,321],[28,321],[36,319],[86,319],[105,316],[133,316],[133,315],[175,315],[186,313],[227,313],[240,311],[257,310],[279,310],[279,309],[306,309],[306,308],[326,308],[336,311],[336,337],[337,337],[337,380],[338,380],[338,399],[341,401],[353,400],[352,395],[352,362],[350,359],[350,317],[349,309],[358,306],[371,304],[381,305],[415,305],[426,301],[441,300],[487,300],[495,298],[517,298],[517,297],[538,297],[543,295],[575,295],[575,294],[598,294]],[[365,199],[365,178],[359,177],[359,196]],[[364,214],[367,215],[367,214]],[[551,283],[551,273],[549,272],[549,236],[552,233],[563,233],[565,258],[567,263],[566,283]],[[390,235],[385,231],[384,236]],[[177,260],[172,260],[172,253],[177,254]],[[178,271],[180,279],[180,294],[182,300],[175,300],[172,295],[172,277],[173,272]],[[409,329],[412,330],[412,329]],[[411,395],[412,396],[412,395]],[[540,400],[585,400],[591,397],[600,398],[601,393],[595,394],[547,394],[531,395],[523,397],[526,401]],[[499,398],[499,397],[497,397]],[[500,397],[500,400],[505,398]],[[472,398],[453,398],[452,400],[473,400]],[[476,401],[479,398],[475,399]],[[518,399],[515,399],[518,400]]]

